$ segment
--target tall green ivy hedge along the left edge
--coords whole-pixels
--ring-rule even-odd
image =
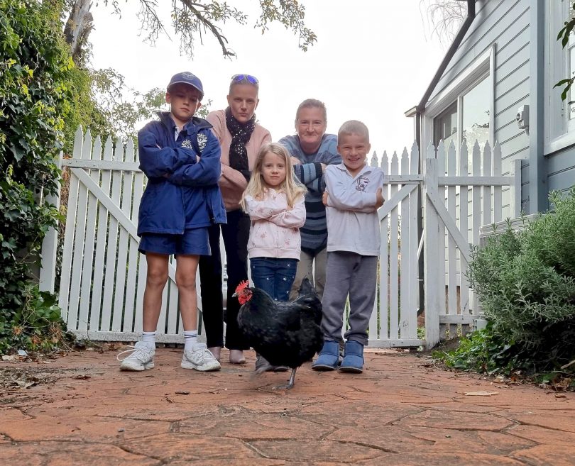
[[[45,196],[58,186],[53,160],[70,113],[73,64],[58,11],[57,1],[0,0],[0,352],[50,346],[50,326],[61,324],[53,298],[29,284],[58,218]]]

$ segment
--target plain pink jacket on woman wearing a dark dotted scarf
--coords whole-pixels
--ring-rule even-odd
[[[214,131],[214,134],[221,145],[221,178],[219,179],[221,196],[224,198],[226,211],[236,211],[240,208],[239,201],[241,199],[241,194],[248,186],[248,182],[246,181],[246,178],[243,177],[243,174],[229,166],[229,145],[231,144],[231,133],[226,126],[226,112],[224,110],[212,111],[206,119],[209,123],[212,123],[212,126],[214,126],[212,131]],[[256,123],[256,129],[253,130],[251,138],[246,144],[250,170],[253,170],[253,165],[256,164],[258,150],[260,150],[262,145],[267,143],[271,143],[270,132]]]

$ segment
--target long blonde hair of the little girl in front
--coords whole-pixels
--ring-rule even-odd
[[[280,189],[285,192],[285,196],[288,199],[288,206],[293,207],[295,201],[300,197],[304,196],[307,192],[307,188],[300,182],[293,172],[292,159],[288,154],[283,145],[278,143],[269,143],[263,145],[259,152],[258,158],[256,159],[256,166],[253,167],[253,172],[251,174],[250,181],[248,182],[248,187],[241,195],[240,205],[241,208],[246,211],[246,196],[252,196],[254,199],[262,199],[263,194],[266,191],[265,182],[263,181],[263,174],[261,173],[261,167],[263,165],[263,157],[268,152],[272,152],[275,155],[279,155],[283,158],[285,162],[285,179],[282,184],[280,184]]]

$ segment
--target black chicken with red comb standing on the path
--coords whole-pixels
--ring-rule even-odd
[[[288,384],[275,388],[292,388],[297,367],[324,344],[319,328],[322,302],[310,280],[303,279],[295,301],[274,301],[263,289],[248,287],[248,282],[239,284],[234,296],[242,305],[238,324],[249,345],[271,365],[292,368]]]

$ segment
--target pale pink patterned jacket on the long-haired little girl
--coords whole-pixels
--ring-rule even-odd
[[[300,226],[305,223],[304,196],[288,210],[285,193],[268,189],[261,201],[246,196],[246,207],[251,218],[249,257],[300,260]]]

